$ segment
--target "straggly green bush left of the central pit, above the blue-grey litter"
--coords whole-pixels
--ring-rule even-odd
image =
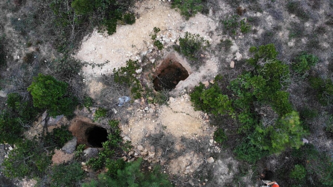
[[[131,93],[135,99],[141,98],[142,86],[140,81],[135,77],[135,70],[140,69],[138,61],[128,60],[126,61],[126,66],[118,68],[118,70],[113,69],[115,76],[115,82],[120,84],[126,84],[131,88]]]

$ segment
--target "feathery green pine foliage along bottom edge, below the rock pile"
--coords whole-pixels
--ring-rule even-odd
[[[83,187],[105,187],[105,186],[140,186],[140,187],[172,187],[166,174],[160,173],[160,167],[156,166],[152,172],[143,173],[140,170],[142,159],[134,162],[127,162],[122,169],[118,169],[117,175],[108,177],[106,174],[100,174],[98,180],[92,180],[85,183]]]

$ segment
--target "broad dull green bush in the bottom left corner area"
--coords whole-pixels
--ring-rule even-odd
[[[8,178],[43,176],[51,164],[52,155],[47,154],[36,140],[25,140],[15,146],[2,163],[4,175]]]

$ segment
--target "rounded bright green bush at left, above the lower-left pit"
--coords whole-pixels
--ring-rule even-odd
[[[70,96],[67,88],[65,82],[50,75],[38,74],[27,90],[32,95],[35,107],[46,108],[50,116],[55,117],[61,114],[71,116],[76,108],[77,100]]]

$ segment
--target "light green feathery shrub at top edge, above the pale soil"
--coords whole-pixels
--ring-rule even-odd
[[[174,0],[172,1],[171,8],[178,8],[180,14],[188,20],[190,17],[195,16],[197,12],[201,12],[201,3],[201,0]]]

